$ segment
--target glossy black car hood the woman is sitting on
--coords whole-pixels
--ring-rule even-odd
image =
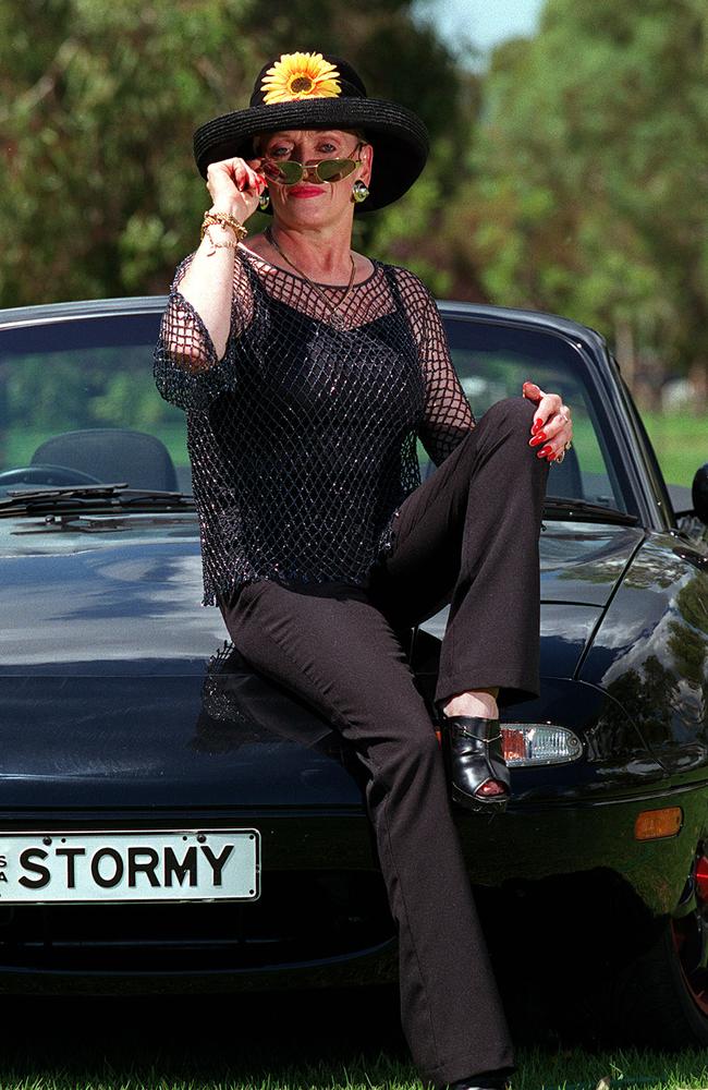
[[[545,675],[572,676],[640,536],[546,525]],[[200,596],[193,529],[4,550],[0,810],[362,807],[351,751],[224,647]]]

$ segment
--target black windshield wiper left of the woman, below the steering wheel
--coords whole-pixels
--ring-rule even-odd
[[[125,482],[117,484],[61,485],[49,488],[13,488],[0,499],[3,513],[35,514],[40,511],[64,512],[106,510],[106,508],[149,507],[164,511],[193,508],[194,497],[182,492],[161,492],[157,488],[130,488]]]

